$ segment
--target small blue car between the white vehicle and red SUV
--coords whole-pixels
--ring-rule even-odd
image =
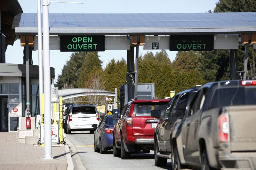
[[[113,149],[113,126],[118,120],[110,116],[106,115],[94,132],[94,152],[100,150],[100,154],[106,154]]]

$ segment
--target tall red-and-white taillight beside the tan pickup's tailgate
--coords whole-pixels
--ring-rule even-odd
[[[228,115],[223,114],[219,116],[219,138],[221,142],[228,142]]]

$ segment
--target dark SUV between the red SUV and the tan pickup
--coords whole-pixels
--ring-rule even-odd
[[[164,115],[159,119],[154,133],[155,165],[166,166],[167,159],[172,158],[172,147],[170,140],[172,136],[178,136],[181,124],[184,121],[187,104],[198,91],[191,88],[175,94],[169,101]],[[151,114],[159,118],[160,112]],[[174,134],[173,134],[174,132]]]

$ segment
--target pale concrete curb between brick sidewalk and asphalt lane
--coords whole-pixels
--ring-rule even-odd
[[[66,153],[68,153],[67,154],[67,161],[68,161],[68,159],[69,159],[69,161],[71,161],[70,169],[68,169],[69,168],[69,161],[68,161],[67,170],[86,170],[80,156],[77,154],[76,147],[67,138],[67,136],[66,136],[66,143],[68,144],[68,145],[65,145]],[[72,167],[71,167],[71,164],[72,164]]]

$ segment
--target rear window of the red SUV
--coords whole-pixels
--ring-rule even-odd
[[[160,110],[161,115],[164,115],[167,103],[141,103],[134,104],[133,115],[135,116],[151,116],[151,110]]]

